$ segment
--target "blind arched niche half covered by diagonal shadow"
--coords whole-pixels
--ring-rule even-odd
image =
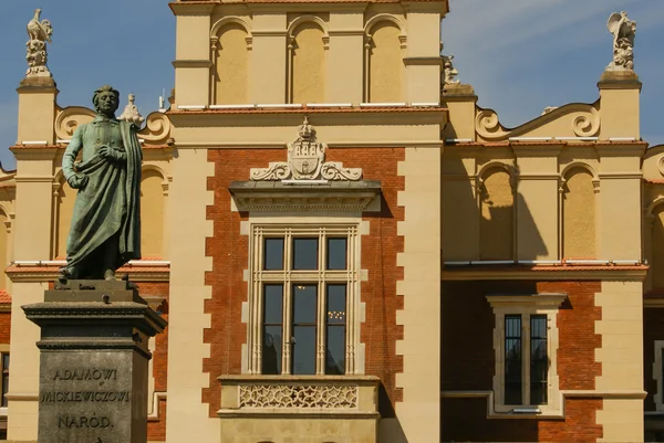
[[[505,169],[491,168],[484,173],[480,213],[480,260],[513,260],[515,193]]]

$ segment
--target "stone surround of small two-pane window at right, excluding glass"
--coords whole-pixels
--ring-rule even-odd
[[[533,294],[533,295],[487,295],[487,300],[494,309],[496,318],[494,327],[494,350],[496,369],[494,372],[494,410],[496,413],[510,413],[518,408],[537,408],[539,414],[525,415],[525,418],[537,418],[538,415],[558,415],[562,413],[562,395],[558,378],[558,346],[559,331],[557,325],[558,310],[567,298],[566,294]],[[522,358],[522,405],[505,404],[505,316],[521,315],[530,318],[531,315],[547,316],[547,355],[549,357],[548,372],[548,403],[539,405],[528,404],[530,386],[530,358]],[[522,321],[521,355],[530,356],[530,321]]]

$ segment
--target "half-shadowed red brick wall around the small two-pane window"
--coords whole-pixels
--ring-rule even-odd
[[[594,323],[600,282],[444,282],[442,298],[442,389],[491,390],[495,372],[494,314],[488,294],[564,293],[560,307],[558,376],[561,390],[592,390],[601,363],[594,361],[601,337]],[[569,399],[564,420],[487,419],[485,399],[444,399],[444,441],[595,441],[601,400]]]

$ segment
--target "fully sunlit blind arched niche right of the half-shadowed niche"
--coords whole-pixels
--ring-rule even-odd
[[[562,193],[562,256],[595,257],[595,193],[592,175],[584,168],[570,169]]]

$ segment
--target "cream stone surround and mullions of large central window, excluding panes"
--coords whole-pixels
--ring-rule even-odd
[[[289,284],[305,282],[319,285],[319,299],[323,299],[323,287],[326,283],[346,284],[346,346],[345,346],[345,373],[364,373],[364,346],[360,342],[360,325],[364,321],[364,304],[360,303],[360,285],[366,279],[366,272],[360,270],[361,235],[369,233],[367,222],[362,222],[357,217],[341,217],[336,222],[331,222],[331,217],[299,217],[299,218],[271,218],[253,217],[249,222],[242,223],[242,233],[249,235],[249,268],[245,275],[248,282],[248,302],[242,306],[242,321],[248,324],[247,345],[242,347],[242,372],[260,375],[262,365],[262,291],[264,283],[284,284],[284,313],[283,336],[288,337],[290,299],[287,296]],[[325,254],[326,244],[322,241],[326,235],[345,236],[347,266],[343,271],[262,271],[263,239],[284,238],[284,263],[291,260],[289,244],[294,236],[318,236],[319,256]],[[319,303],[318,334],[317,334],[317,375],[324,375],[325,340],[322,333],[325,328],[324,303]],[[290,348],[284,340],[282,344],[282,359],[284,369],[282,376],[289,375]],[[263,376],[268,377],[268,376]],[[278,376],[280,377],[280,376]]]

